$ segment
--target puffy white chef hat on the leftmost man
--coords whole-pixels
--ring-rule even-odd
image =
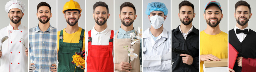
[[[11,10],[12,8],[18,8],[22,12],[24,12],[25,11],[25,4],[22,1],[11,0],[11,1],[6,3],[5,11],[8,13],[9,10]]]

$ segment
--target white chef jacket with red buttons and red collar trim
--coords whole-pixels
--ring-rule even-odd
[[[9,38],[3,42],[0,72],[28,72],[28,57],[25,47],[20,43],[20,38],[23,38],[28,48],[28,28],[19,25],[18,30],[13,30],[9,24],[0,30],[0,40],[5,36]]]

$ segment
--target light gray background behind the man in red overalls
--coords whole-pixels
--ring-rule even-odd
[[[106,23],[109,29],[114,30],[114,6],[113,6],[114,0],[87,0],[86,1],[86,32],[92,30],[93,26],[95,26],[95,20],[93,19],[92,13],[93,13],[93,5],[98,1],[105,2],[108,5],[109,19],[107,20]]]

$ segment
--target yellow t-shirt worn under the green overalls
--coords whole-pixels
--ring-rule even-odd
[[[65,28],[66,29],[66,28]],[[79,39],[80,39],[80,35],[81,35],[81,32],[82,32],[82,28],[79,27],[78,31],[76,31],[75,33],[72,33],[72,34],[68,34],[66,32],[66,30],[63,30],[63,42],[65,43],[79,43]],[[58,52],[59,52],[59,41],[60,41],[60,35],[61,35],[61,31],[58,31],[58,35],[57,35],[57,41],[58,41]],[[85,32],[84,32],[84,39],[83,39],[83,49],[82,50],[85,50]]]

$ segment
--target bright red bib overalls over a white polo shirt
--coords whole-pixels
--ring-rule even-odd
[[[92,45],[91,31],[88,32],[88,56],[87,56],[87,72],[113,72],[113,34],[111,36],[108,46]]]

